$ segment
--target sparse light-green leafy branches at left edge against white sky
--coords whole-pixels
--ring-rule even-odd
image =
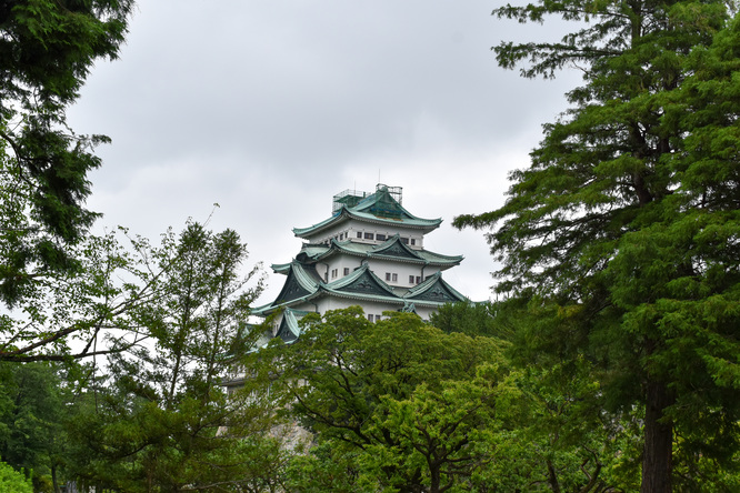
[[[152,264],[146,242],[126,245],[120,232],[86,238],[71,250],[78,268],[24,286],[14,310],[0,314],[0,361],[69,362],[149,335],[132,312],[161,296],[162,265]],[[103,336],[120,340],[104,345]]]

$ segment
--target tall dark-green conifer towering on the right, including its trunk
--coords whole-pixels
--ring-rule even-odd
[[[573,66],[586,84],[544,125],[530,168],[511,174],[506,204],[454,224],[493,228],[498,290],[554,321],[530,332],[543,350],[593,362],[609,410],[644,406],[642,492],[671,491],[674,444],[694,452],[677,459],[731,465],[740,409],[737,381],[723,375],[737,368],[740,322],[738,113],[707,92],[716,82],[696,59],[728,26],[728,7],[567,0],[494,13],[581,22],[562,42],[496,51],[504,68],[529,59],[524,77]],[[710,445],[674,440],[698,430]]]

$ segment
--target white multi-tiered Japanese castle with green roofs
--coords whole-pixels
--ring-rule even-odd
[[[273,336],[290,343],[308,312],[360,305],[371,322],[384,311],[407,311],[428,319],[440,305],[466,301],[442,279],[460,264],[424,249],[424,235],[442,222],[403,209],[402,189],[378,184],[374,193],[347,190],[333,197],[329,219],[294,228],[306,242],[290,263],[273,264],[286,282],[276,300],[252,311],[278,313]]]

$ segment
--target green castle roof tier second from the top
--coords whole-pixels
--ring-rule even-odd
[[[380,244],[356,243],[351,240],[337,241],[336,239],[332,239],[329,244],[307,244],[298,254],[298,259],[304,262],[318,262],[340,253],[366,259],[389,259],[444,268],[458,265],[463,259],[462,255],[442,255],[428,250],[412,249],[403,244],[400,234],[396,234]],[[272,265],[272,269],[278,273],[284,273],[283,270],[279,270],[283,269],[283,265]]]

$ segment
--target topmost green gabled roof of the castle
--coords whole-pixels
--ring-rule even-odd
[[[411,214],[403,209],[384,185],[379,185],[376,193],[359,200],[358,203],[349,202],[349,204],[341,203],[340,205],[331,218],[308,228],[293,228],[293,233],[298,238],[308,238],[350,219],[376,224],[421,229],[424,232],[437,229],[442,222],[441,219],[422,219]]]

